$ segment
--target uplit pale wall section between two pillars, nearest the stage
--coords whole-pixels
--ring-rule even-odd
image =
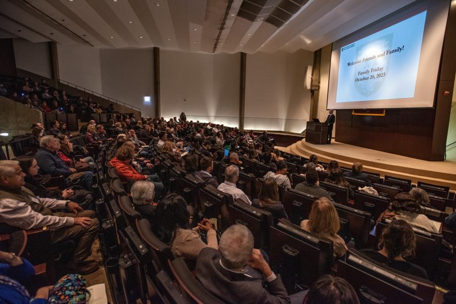
[[[310,110],[304,69],[312,64],[311,51],[248,54],[244,128],[302,132]]]

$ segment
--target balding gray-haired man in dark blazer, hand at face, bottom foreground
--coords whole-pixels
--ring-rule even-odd
[[[224,303],[290,303],[282,279],[271,270],[267,259],[260,250],[253,249],[250,230],[235,224],[223,233],[219,250],[201,250],[196,278]],[[306,293],[291,298],[303,303]]]

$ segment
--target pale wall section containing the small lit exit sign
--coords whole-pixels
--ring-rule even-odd
[[[141,109],[154,116],[154,75],[152,50],[100,50],[103,95]],[[144,103],[144,96],[151,102]]]

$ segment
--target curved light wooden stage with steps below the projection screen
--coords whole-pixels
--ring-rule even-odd
[[[421,181],[450,186],[452,190],[456,190],[456,161],[426,161],[334,141],[331,145],[313,145],[302,139],[290,146],[276,148],[305,157],[316,154],[318,159],[324,162],[335,159],[341,166],[349,168],[353,162],[359,161],[366,171],[377,172],[381,176],[411,179],[412,183]]]

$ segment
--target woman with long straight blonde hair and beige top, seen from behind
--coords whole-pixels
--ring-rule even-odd
[[[341,229],[339,214],[333,203],[327,198],[320,198],[312,204],[309,219],[301,222],[301,228],[333,241],[333,252],[337,257],[345,255],[347,247],[343,239],[337,234]]]

